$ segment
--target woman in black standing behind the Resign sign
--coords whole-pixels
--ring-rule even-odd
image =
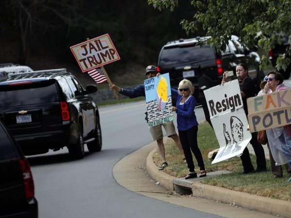
[[[236,76],[239,79],[240,90],[241,90],[241,95],[242,95],[243,109],[244,109],[245,115],[247,116],[248,111],[247,111],[246,99],[249,97],[254,97],[256,95],[255,89],[254,89],[255,82],[249,77],[248,67],[244,63],[240,63],[237,65]],[[226,78],[226,75],[224,73],[221,85],[224,85],[226,80],[227,80],[227,78]],[[258,142],[257,135],[258,135],[258,132],[252,133],[252,139],[250,141],[250,143],[252,144],[252,146],[254,148],[254,152],[256,154],[256,157],[257,157],[257,169],[255,171],[253,164],[251,162],[249,150],[246,147],[243,150],[242,155],[241,155],[242,167],[243,167],[242,174],[252,173],[252,172],[260,172],[260,171],[267,170],[264,148]]]

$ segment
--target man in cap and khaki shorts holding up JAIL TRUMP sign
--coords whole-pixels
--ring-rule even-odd
[[[156,77],[156,75],[158,74],[158,71],[159,71],[159,69],[156,66],[153,66],[153,65],[147,66],[146,67],[147,78]],[[130,98],[146,96],[144,83],[134,87],[133,89],[123,89],[123,88],[120,88],[114,84],[112,86],[109,84],[109,87],[112,90],[114,89],[116,92],[119,92],[121,94],[129,96]],[[146,115],[146,121],[147,121],[147,115]],[[165,167],[168,166],[168,163],[166,162],[166,156],[165,156],[165,146],[163,143],[162,126],[164,127],[164,129],[167,133],[167,136],[172,138],[175,141],[178,149],[180,150],[180,152],[183,156],[183,160],[186,160],[185,156],[184,156],[184,151],[182,149],[182,145],[181,145],[181,142],[180,142],[179,137],[177,135],[173,121],[149,127],[149,132],[152,136],[152,139],[157,141],[158,151],[159,151],[159,154],[160,154],[161,159],[162,159],[162,165],[159,168],[160,171],[162,171]]]

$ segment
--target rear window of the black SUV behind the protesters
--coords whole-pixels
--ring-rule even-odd
[[[214,50],[210,46],[164,47],[160,55],[159,65],[171,65],[183,62],[203,62],[214,58]]]

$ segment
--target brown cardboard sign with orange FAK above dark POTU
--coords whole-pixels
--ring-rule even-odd
[[[291,124],[291,89],[247,99],[251,132]]]

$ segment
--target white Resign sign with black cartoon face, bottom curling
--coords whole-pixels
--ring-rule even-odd
[[[237,79],[204,91],[210,120],[219,143],[219,151],[212,164],[242,155],[252,138],[243,110]]]

